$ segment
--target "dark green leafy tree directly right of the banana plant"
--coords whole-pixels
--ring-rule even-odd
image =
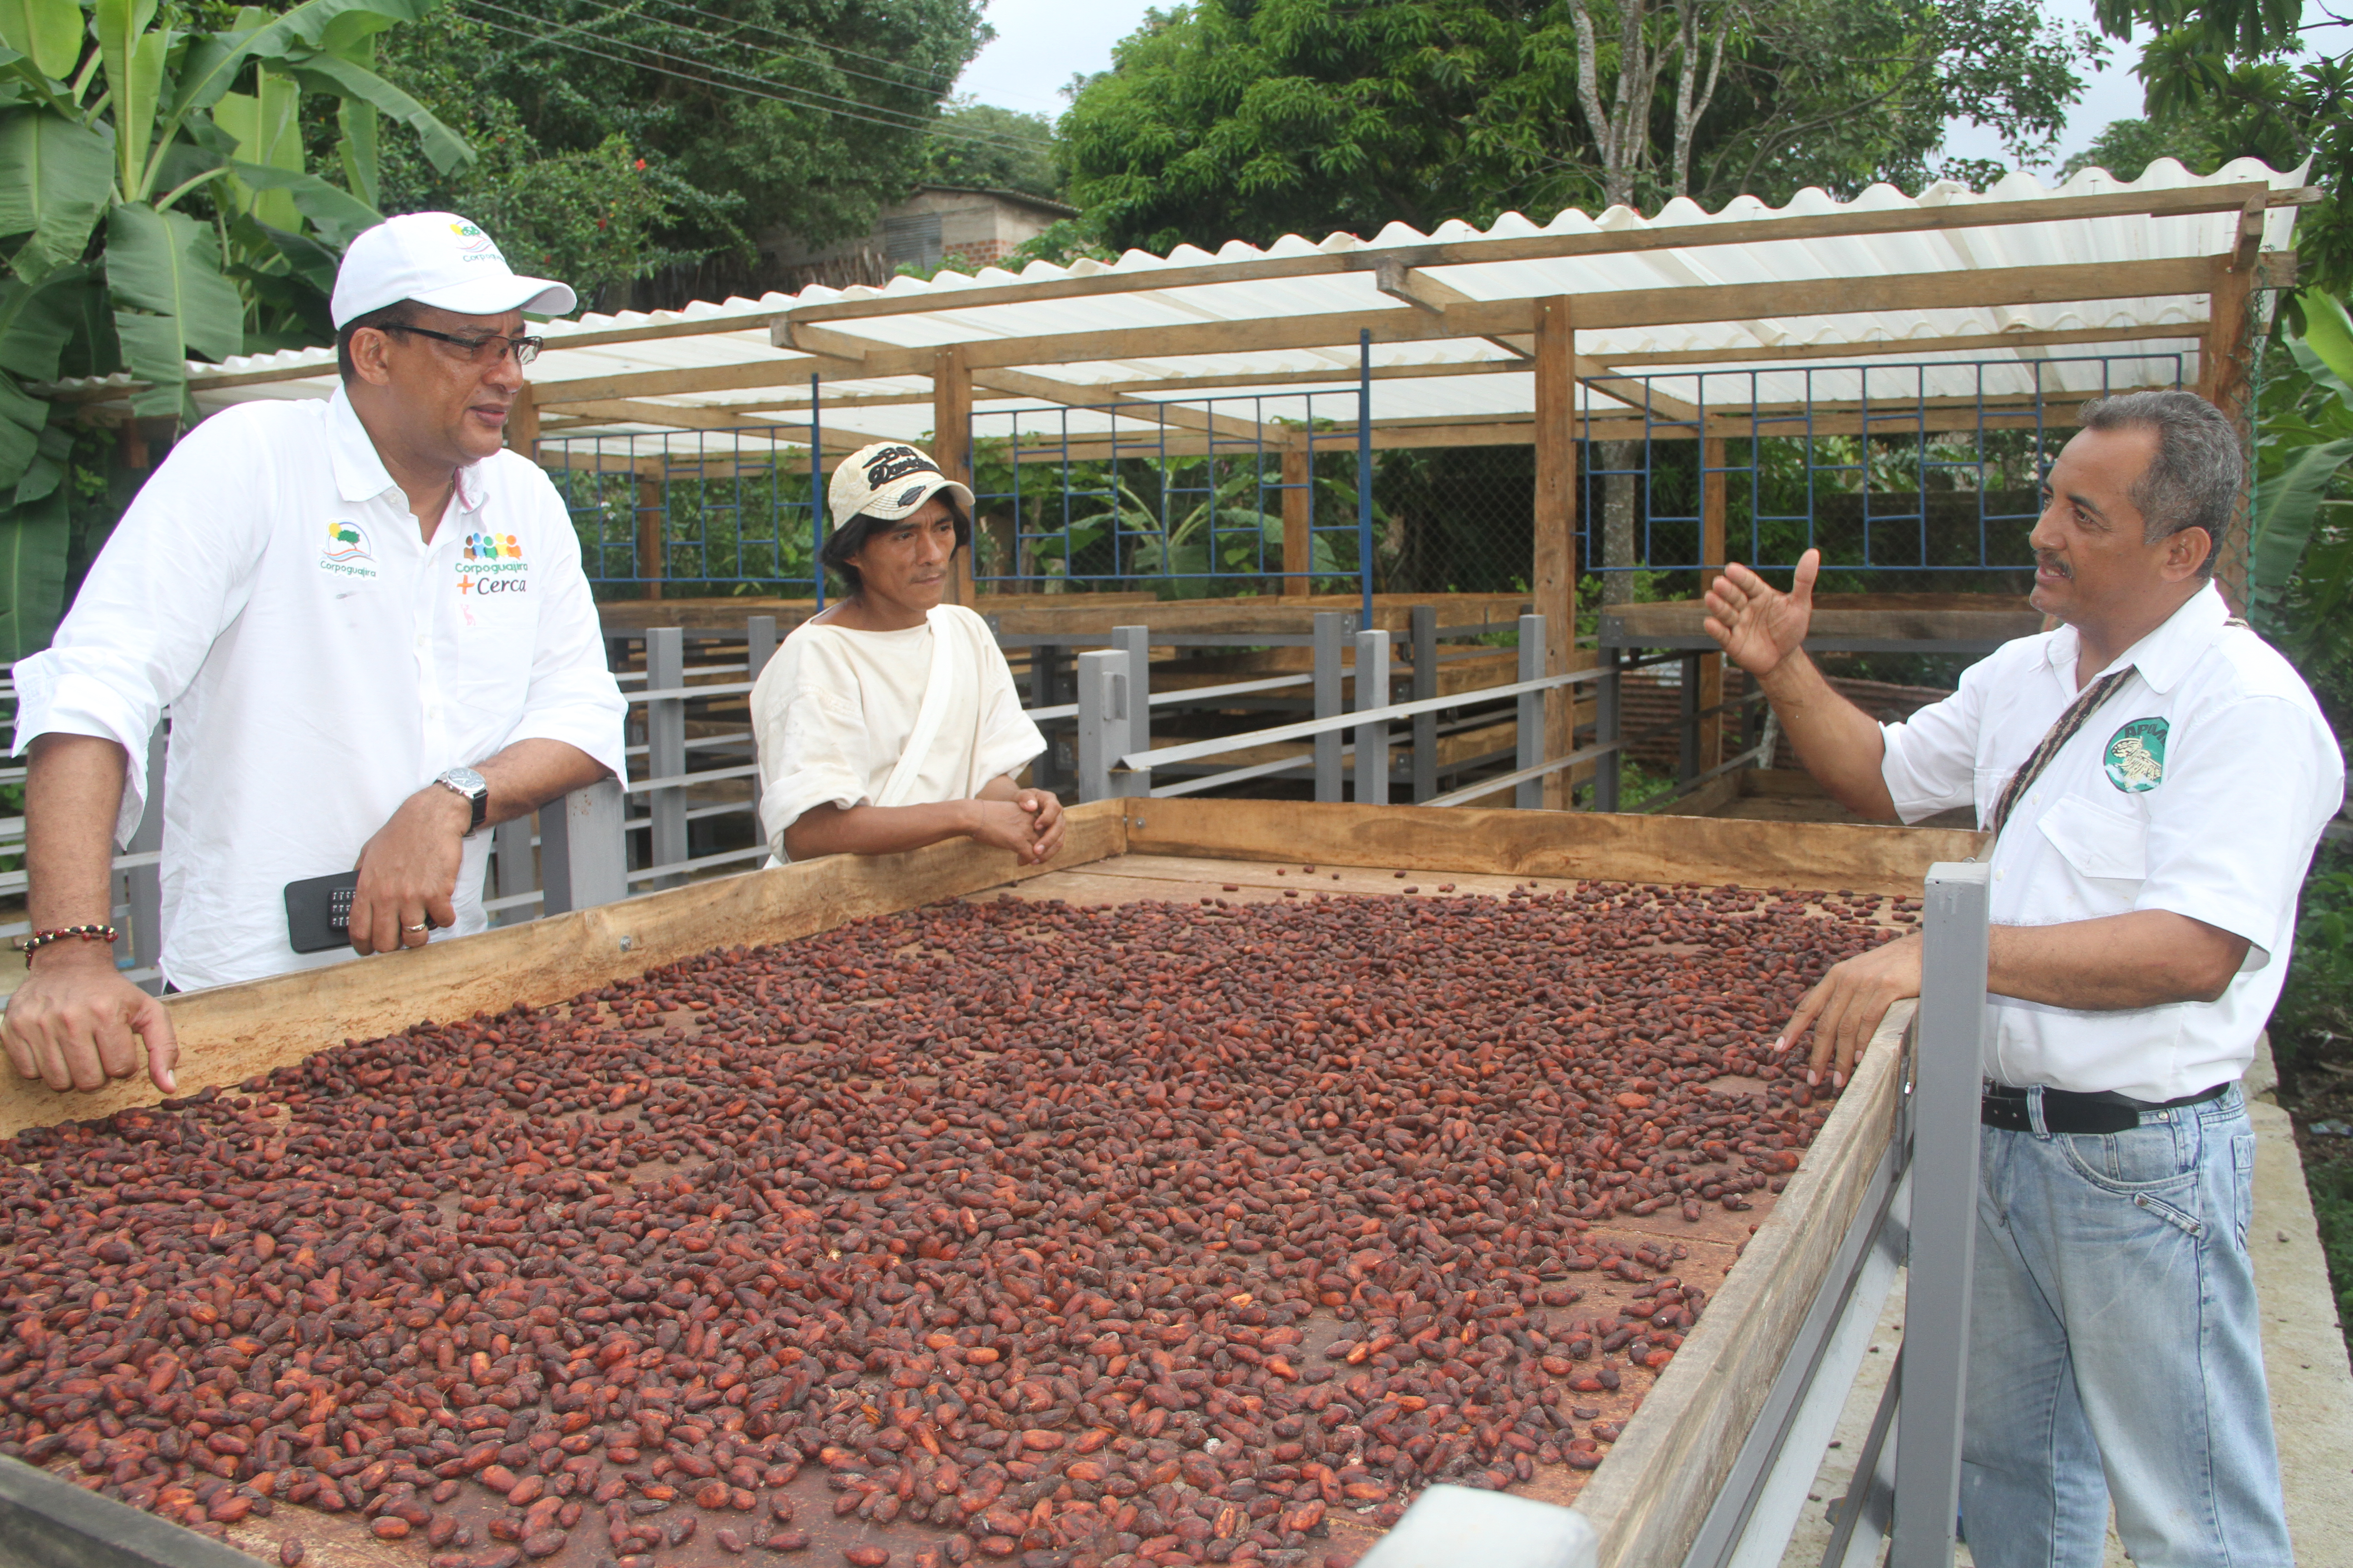
[[[739,268],[769,228],[864,233],[920,179],[936,108],[988,38],[979,0],[473,0],[466,14],[468,89],[513,108],[534,158],[645,160],[661,209],[638,256]]]

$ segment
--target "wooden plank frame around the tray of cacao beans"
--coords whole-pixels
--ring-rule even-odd
[[[1064,853],[1045,867],[1016,867],[1007,853],[962,839],[906,856],[835,856],[501,926],[419,952],[188,992],[167,1006],[181,1039],[181,1091],[193,1093],[419,1018],[544,1006],[713,947],[781,943],[1122,853],[1918,896],[1932,863],[1962,860],[1979,849],[1974,832],[1918,827],[1106,799],[1068,811]],[[1708,1316],[1579,1495],[1577,1509],[1600,1533],[1602,1568],[1680,1563],[1689,1549],[1894,1135],[1899,1037],[1908,1011],[1889,1013]],[[0,1086],[0,1133],[153,1103],[144,1077],[87,1095],[9,1079]]]

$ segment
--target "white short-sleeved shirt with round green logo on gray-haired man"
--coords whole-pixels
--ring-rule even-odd
[[[2280,999],[2297,891],[2344,804],[2344,755],[2304,677],[2209,583],[2108,670],[2134,675],[2052,757],[1993,846],[1993,924],[2172,910],[2247,938],[2217,1001],[2073,1011],[1998,997],[1986,1077],[2174,1100],[2238,1079]],[[2021,637],[1960,691],[1887,724],[1880,766],[1915,823],[1977,806],[2075,701],[2073,628]],[[2108,670],[2101,670],[2106,675]]]

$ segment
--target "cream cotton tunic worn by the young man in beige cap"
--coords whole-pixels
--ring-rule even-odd
[[[988,623],[941,604],[925,625],[859,632],[826,621],[802,625],[751,691],[760,748],[760,827],[786,860],[784,830],[812,806],[868,806],[882,797],[906,752],[932,679],[936,639],[948,639],[946,722],[925,750],[913,790],[892,804],[972,799],[988,780],[1019,773],[1045,752],[1045,736],[1014,689],[1014,672]]]

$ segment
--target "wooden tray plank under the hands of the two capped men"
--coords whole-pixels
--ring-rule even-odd
[[[1125,853],[1129,802],[1071,806],[1064,851],[1047,865],[969,839],[904,856],[828,856],[755,870],[520,926],[431,943],[268,980],[172,997],[179,1030],[179,1093],[238,1084],[289,1067],[344,1039],[393,1034],[424,1018],[471,1018],[546,1006],[598,985],[711,952],[784,943],[939,898],[981,893],[1054,870]],[[31,1126],[108,1117],[158,1103],[155,1086],[118,1079],[92,1093],[56,1093],[35,1079],[0,1081],[0,1135]]]

